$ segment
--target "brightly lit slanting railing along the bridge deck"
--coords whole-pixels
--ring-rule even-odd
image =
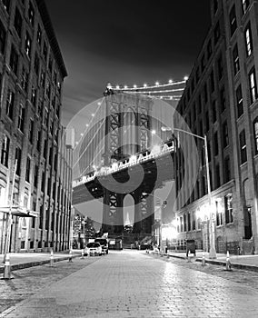
[[[130,158],[118,161],[110,166],[103,166],[95,170],[94,172],[91,172],[90,174],[86,174],[80,177],[79,179],[74,180],[73,188],[81,184],[86,184],[88,182],[91,182],[96,177],[101,177],[108,174],[114,174],[128,167],[131,167],[137,164],[142,164],[151,159],[162,157],[164,156],[164,154],[172,153],[175,151],[174,141],[171,141],[170,144],[171,145],[162,144],[160,146],[154,147],[152,150],[146,150],[144,153],[134,154]]]

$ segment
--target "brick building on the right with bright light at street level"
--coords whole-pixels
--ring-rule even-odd
[[[193,134],[207,136],[212,204],[203,140],[194,138],[200,159],[196,180],[186,160],[193,144],[184,155],[177,153],[178,241],[195,239],[207,251],[213,229],[218,253],[258,253],[258,4],[213,0],[211,17],[174,124],[183,116]],[[184,138],[181,133],[181,143]]]

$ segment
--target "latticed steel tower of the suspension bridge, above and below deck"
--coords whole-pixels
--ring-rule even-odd
[[[105,96],[104,165],[113,164],[151,145],[151,112],[153,101],[140,94],[109,94]],[[151,233],[154,221],[154,198],[144,198],[143,189],[132,192],[135,203],[134,232]],[[124,230],[124,194],[104,189],[102,230],[122,233]]]

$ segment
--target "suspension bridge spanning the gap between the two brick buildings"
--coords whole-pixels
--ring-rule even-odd
[[[106,94],[74,149],[73,204],[103,203],[102,230],[124,231],[123,202],[134,199],[134,233],[151,234],[154,190],[174,180],[174,107],[140,93]]]

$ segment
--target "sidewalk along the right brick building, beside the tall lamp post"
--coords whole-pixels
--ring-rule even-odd
[[[173,252],[169,251],[167,254],[160,253],[161,256],[168,256],[168,257],[176,257],[186,260],[185,252]],[[205,263],[212,263],[217,265],[226,264],[226,254],[217,253],[216,259],[209,259],[209,253],[204,253],[205,256]],[[202,262],[203,259],[203,252],[196,251],[196,257],[191,257],[192,262]],[[255,255],[230,255],[230,262],[232,263],[232,268],[243,269],[247,271],[254,271],[258,272],[258,254]]]

